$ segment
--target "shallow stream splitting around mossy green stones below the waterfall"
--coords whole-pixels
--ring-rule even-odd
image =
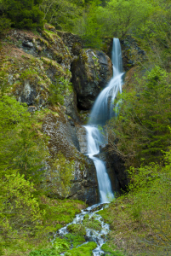
[[[77,254],[77,250],[82,251],[85,247],[88,251],[92,248],[94,256],[105,255],[101,247],[105,244],[110,227],[98,213],[104,207],[107,207],[107,204],[95,204],[82,210],[70,224],[66,224],[57,231],[54,241],[61,241],[61,239],[70,241],[68,252],[71,252],[71,255]],[[60,255],[67,255],[67,253]]]

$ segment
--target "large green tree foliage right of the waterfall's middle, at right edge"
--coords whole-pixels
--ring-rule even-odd
[[[145,163],[162,160],[161,150],[170,141],[169,81],[168,73],[156,66],[120,96],[123,103],[117,119],[111,120],[109,133],[111,147],[128,166],[140,165],[141,158]]]

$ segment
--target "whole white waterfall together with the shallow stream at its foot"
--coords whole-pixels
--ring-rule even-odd
[[[94,102],[94,107],[89,117],[88,125],[85,125],[87,131],[87,155],[90,159],[94,161],[94,166],[97,172],[99,193],[100,193],[100,204],[88,207],[86,210],[82,210],[80,214],[77,214],[71,224],[83,224],[83,219],[86,214],[88,218],[94,217],[94,219],[100,221],[101,230],[86,229],[86,241],[95,241],[97,247],[94,249],[94,256],[100,256],[104,252],[101,250],[102,245],[105,243],[106,235],[109,232],[109,224],[105,224],[103,219],[100,217],[96,210],[98,206],[104,207],[106,203],[109,203],[114,195],[111,190],[111,181],[106,172],[105,163],[98,159],[96,156],[100,154],[100,145],[106,143],[104,136],[100,133],[98,126],[105,125],[108,119],[116,115],[114,108],[114,101],[117,93],[120,91],[122,93],[123,85],[123,63],[122,63],[122,51],[119,39],[113,39],[112,47],[112,59],[113,63],[113,78],[110,83],[106,85],[105,89],[101,91],[100,95]],[[119,102],[116,103],[116,108],[118,108]],[[95,156],[94,156],[95,155]],[[67,226],[60,229],[56,236],[65,236],[69,231]],[[65,253],[61,254],[65,255]]]

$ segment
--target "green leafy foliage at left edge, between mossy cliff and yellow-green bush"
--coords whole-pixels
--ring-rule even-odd
[[[27,108],[12,97],[1,97],[0,117],[1,177],[12,168],[40,183],[43,160],[48,157],[46,137],[34,127]]]

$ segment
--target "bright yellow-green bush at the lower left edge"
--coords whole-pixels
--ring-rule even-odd
[[[0,229],[3,237],[33,235],[43,212],[33,198],[33,183],[19,173],[5,175],[0,185]]]

